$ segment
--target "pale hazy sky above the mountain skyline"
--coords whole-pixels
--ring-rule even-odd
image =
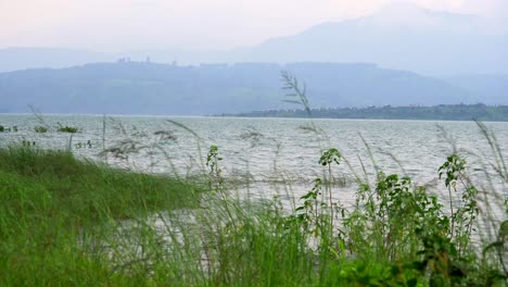
[[[230,49],[394,2],[493,23],[508,14],[508,0],[0,0],[0,48]]]

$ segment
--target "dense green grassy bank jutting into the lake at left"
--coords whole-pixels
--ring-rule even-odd
[[[64,151],[0,149],[0,285],[124,285],[86,246],[114,223],[196,205],[186,183],[78,161]],[[105,227],[111,225],[112,227]]]

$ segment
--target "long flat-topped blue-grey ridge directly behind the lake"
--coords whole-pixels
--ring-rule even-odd
[[[8,112],[29,112],[28,105],[34,105],[48,113],[180,115],[288,109],[292,105],[283,101],[281,71],[306,83],[312,107],[491,104],[479,99],[480,93],[445,80],[374,64],[180,66],[119,61],[0,73],[0,108]]]

